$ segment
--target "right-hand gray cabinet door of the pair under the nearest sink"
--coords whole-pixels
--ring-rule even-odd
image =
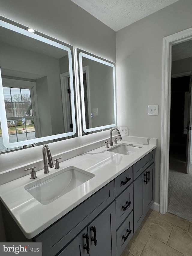
[[[90,256],[117,255],[115,202],[91,222],[88,235]]]

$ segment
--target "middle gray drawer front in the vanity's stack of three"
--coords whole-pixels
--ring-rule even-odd
[[[118,228],[133,210],[133,184],[116,198],[116,227]]]

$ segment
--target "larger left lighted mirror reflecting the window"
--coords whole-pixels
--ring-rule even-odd
[[[76,134],[73,47],[24,28],[0,20],[0,152]]]

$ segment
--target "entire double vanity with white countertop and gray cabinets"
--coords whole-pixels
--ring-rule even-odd
[[[156,145],[118,143],[50,169],[46,180],[69,166],[92,175],[51,202],[40,202],[25,189],[45,179],[42,170],[35,181],[27,175],[0,186],[4,206],[28,239],[42,242],[42,255],[121,255],[154,202]]]

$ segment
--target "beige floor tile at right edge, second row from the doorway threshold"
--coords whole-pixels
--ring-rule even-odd
[[[183,230],[180,227],[173,226],[167,245],[177,251],[182,252],[186,256],[192,255],[192,233]]]

